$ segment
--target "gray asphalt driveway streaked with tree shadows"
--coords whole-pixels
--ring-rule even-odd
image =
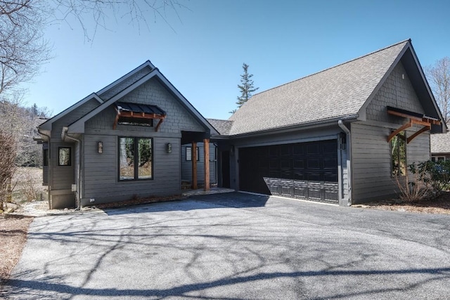
[[[6,299],[448,299],[450,217],[226,193],[34,219]]]

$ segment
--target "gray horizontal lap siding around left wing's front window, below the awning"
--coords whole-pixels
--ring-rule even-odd
[[[102,141],[103,153],[97,153]],[[84,197],[98,202],[129,199],[133,195],[175,195],[181,190],[179,138],[153,138],[153,180],[118,180],[118,137],[86,135],[84,138]],[[165,145],[172,144],[172,153]]]

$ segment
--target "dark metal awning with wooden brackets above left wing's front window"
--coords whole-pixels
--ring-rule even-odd
[[[162,121],[166,117],[166,112],[156,105],[140,104],[140,103],[124,103],[116,102],[115,110],[117,115],[114,120],[113,129],[116,128],[117,123],[121,120],[126,122],[133,122],[136,124],[153,124],[153,119],[159,119],[155,131],[158,131]]]

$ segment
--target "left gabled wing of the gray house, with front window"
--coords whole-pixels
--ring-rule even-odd
[[[150,61],[38,130],[47,164],[44,183],[53,209],[134,195],[179,195],[181,145],[209,146],[211,134],[218,135]],[[204,177],[209,178],[210,155],[204,148]],[[192,166],[197,169],[196,159]],[[209,188],[207,181],[205,186]]]

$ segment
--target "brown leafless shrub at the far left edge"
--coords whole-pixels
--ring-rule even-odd
[[[15,141],[11,133],[0,129],[0,210],[8,195],[8,183],[15,170]]]

